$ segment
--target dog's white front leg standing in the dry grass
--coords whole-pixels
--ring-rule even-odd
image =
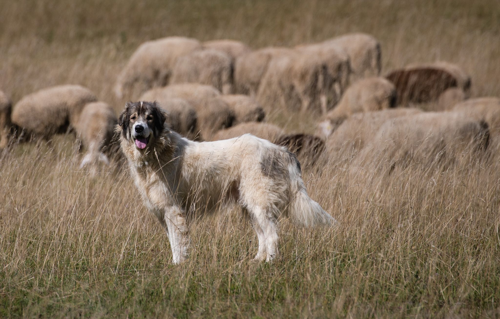
[[[178,206],[170,206],[165,209],[165,224],[172,249],[173,263],[180,264],[187,258],[189,236],[187,235],[186,220]]]

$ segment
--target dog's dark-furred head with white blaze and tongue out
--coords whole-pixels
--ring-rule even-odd
[[[133,140],[135,147],[142,150],[161,134],[166,117],[156,101],[126,102],[118,125],[123,138]]]

